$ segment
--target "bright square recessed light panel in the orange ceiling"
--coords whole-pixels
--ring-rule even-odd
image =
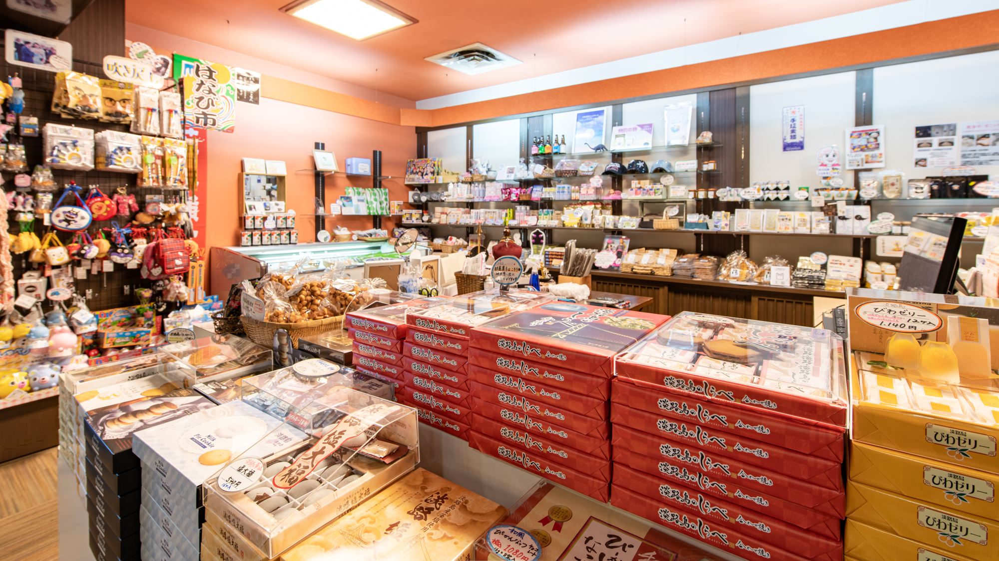
[[[281,11],[358,41],[417,23],[378,0],[306,0]]]

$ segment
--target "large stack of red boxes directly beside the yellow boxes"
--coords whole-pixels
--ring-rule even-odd
[[[843,558],[837,335],[685,311],[615,374],[611,504],[746,559]]]

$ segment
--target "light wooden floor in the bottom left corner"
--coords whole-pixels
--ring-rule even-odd
[[[53,561],[59,559],[59,498],[56,461],[58,449],[49,448],[0,463],[0,528],[6,540],[4,559]]]

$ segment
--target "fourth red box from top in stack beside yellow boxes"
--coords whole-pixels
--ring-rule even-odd
[[[742,487],[755,491],[747,490],[744,492],[746,495],[769,494],[837,520],[845,516],[845,490],[819,487],[783,473],[762,469],[736,459],[716,456],[707,450],[675,440],[663,439],[658,448],[636,451],[627,442],[631,429],[618,425],[612,428],[615,435],[619,432],[623,437],[621,443],[613,447],[615,462],[666,478],[675,475],[690,480],[689,478],[694,476],[691,475],[693,472],[696,474],[698,484],[703,482],[704,485],[709,482],[731,481],[726,485],[728,489],[726,494],[730,498],[735,494],[733,489]],[[770,513],[773,514],[773,511]],[[811,527],[808,521],[802,520],[802,523]]]

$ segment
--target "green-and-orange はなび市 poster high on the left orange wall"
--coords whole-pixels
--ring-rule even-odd
[[[228,66],[175,54],[174,78],[181,82],[185,128],[236,131],[236,81]]]

